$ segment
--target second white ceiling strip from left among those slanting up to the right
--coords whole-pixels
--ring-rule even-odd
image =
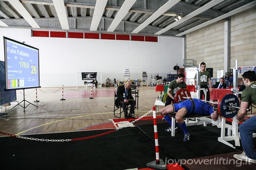
[[[109,32],[115,31],[115,28],[118,26],[118,24],[122,21],[122,19],[128,14],[129,10],[131,9],[132,5],[136,0],[125,0],[124,4],[122,4],[121,8],[119,9],[117,15],[115,16],[115,19],[109,26],[108,30]]]

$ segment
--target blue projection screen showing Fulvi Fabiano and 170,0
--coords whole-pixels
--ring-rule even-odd
[[[39,49],[4,37],[6,90],[40,87]]]

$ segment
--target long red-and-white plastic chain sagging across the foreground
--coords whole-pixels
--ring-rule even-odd
[[[76,139],[38,139],[38,138],[33,138],[33,137],[24,137],[24,136],[19,136],[19,135],[13,135],[13,134],[9,134],[9,133],[5,133],[5,132],[0,132],[1,134],[3,135],[8,135],[8,136],[12,136],[12,137],[17,137],[17,138],[20,138],[20,139],[27,139],[27,140],[32,140],[32,141],[46,141],[46,142],[69,142],[69,141],[80,141],[80,140],[84,140],[84,139],[90,139],[90,138],[94,138],[94,137],[99,137],[99,136],[102,136],[102,135],[106,135],[106,134],[109,134],[109,133],[112,133],[112,132],[115,132],[119,129],[122,129],[130,124],[134,124],[134,122],[137,122],[139,121],[139,119],[147,116],[149,113],[151,113],[152,110],[150,110],[148,113],[146,113],[145,115],[142,115],[141,117],[139,117],[138,119],[135,119],[134,121],[132,122],[129,122],[127,124],[125,124],[124,126],[121,126],[119,128],[116,128],[116,129],[113,129],[113,130],[110,130],[108,132],[104,132],[104,133],[100,133],[100,134],[97,134],[97,135],[92,135],[92,136],[87,136],[87,137],[81,137],[81,138],[76,138]]]

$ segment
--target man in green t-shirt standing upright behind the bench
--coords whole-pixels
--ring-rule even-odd
[[[206,69],[206,64],[202,62],[200,64],[200,89],[204,89],[207,91],[206,98],[204,95],[204,90],[200,90],[200,89],[198,90],[200,90],[200,99],[203,99],[203,96],[204,96],[204,100],[210,101],[210,92],[212,91],[211,76],[210,76],[210,73],[205,69]],[[194,82],[195,82],[195,86],[197,86],[197,74],[195,75]],[[210,91],[208,88],[208,84],[210,87]]]

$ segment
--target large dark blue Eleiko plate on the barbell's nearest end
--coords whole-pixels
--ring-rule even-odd
[[[233,104],[233,106],[240,106],[238,97],[234,94],[226,94],[219,98],[218,102],[218,112],[221,116],[226,118],[233,118],[237,115],[237,110],[232,110],[228,106]]]

